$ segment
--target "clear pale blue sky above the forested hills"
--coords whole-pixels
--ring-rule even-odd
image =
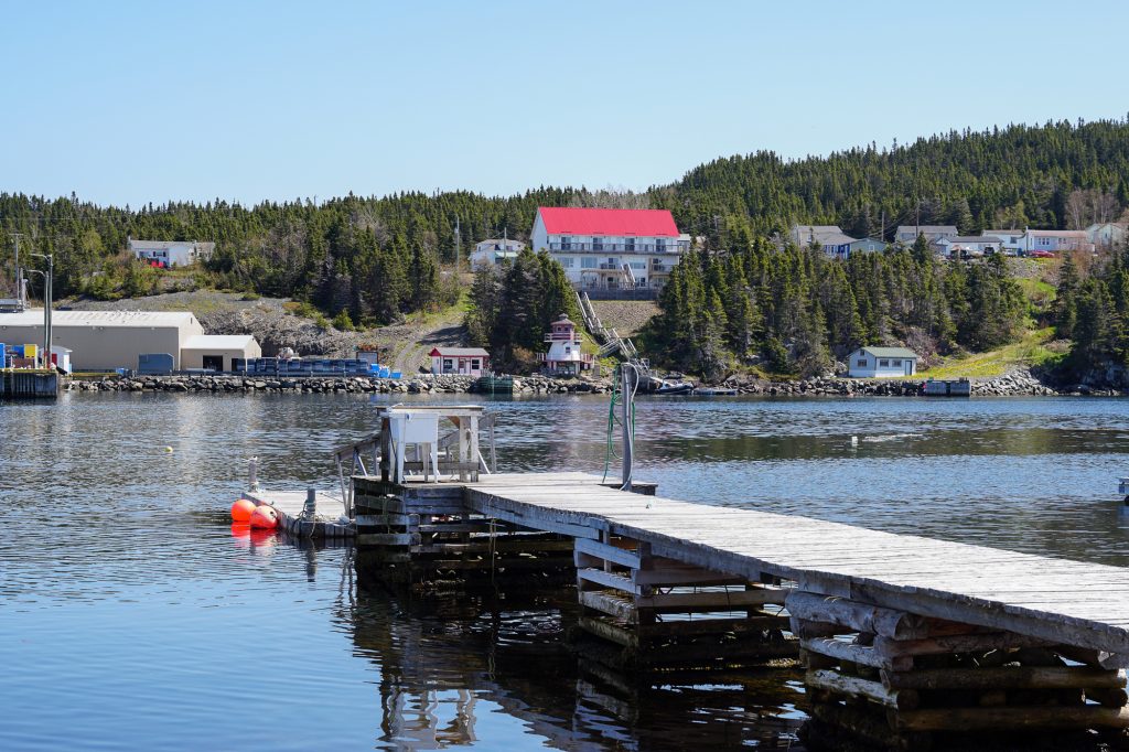
[[[1129,3],[5,2],[0,191],[645,189],[718,156],[1124,117]]]

